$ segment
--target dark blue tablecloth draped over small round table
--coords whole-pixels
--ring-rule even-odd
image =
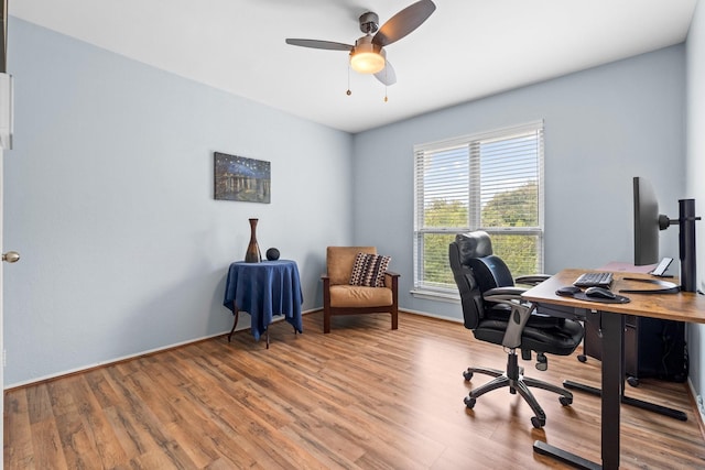
[[[296,331],[303,332],[302,303],[301,280],[295,261],[239,261],[230,264],[223,305],[234,314],[236,308],[250,314],[256,340],[267,331],[274,315],[284,315]]]

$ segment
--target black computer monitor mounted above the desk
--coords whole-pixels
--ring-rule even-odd
[[[659,262],[659,200],[651,184],[639,176],[633,179],[634,264]]]

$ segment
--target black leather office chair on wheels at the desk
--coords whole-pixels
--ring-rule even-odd
[[[519,392],[533,409],[533,427],[543,427],[546,415],[529,387],[557,393],[563,406],[573,403],[573,394],[562,386],[523,376],[523,368],[518,364],[516,350],[521,350],[523,360],[531,360],[531,351],[536,351],[536,369],[546,370],[544,353],[573,353],[583,339],[583,326],[571,318],[540,315],[534,305],[522,299],[521,293],[525,288],[514,286],[514,280],[505,262],[492,254],[492,243],[486,232],[457,234],[448,247],[448,255],[460,293],[465,327],[471,329],[475,338],[480,341],[501,345],[508,350],[506,371],[468,368],[463,373],[466,381],[473,379],[476,372],[495,378],[474,389],[465,398],[465,405],[471,409],[480,395],[508,386],[510,393]],[[517,282],[531,285],[546,277],[525,276],[517,278]]]

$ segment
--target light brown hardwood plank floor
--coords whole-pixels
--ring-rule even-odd
[[[535,439],[599,459],[599,398],[572,406],[535,391],[543,429],[507,390],[466,409],[470,364],[503,369],[501,348],[460,324],[400,314],[304,316],[270,327],[271,347],[225,337],[6,392],[6,469],[556,469]],[[549,358],[527,375],[599,386],[599,362]],[[705,468],[687,387],[642,380],[628,394],[687,413],[680,422],[622,406],[625,469]]]

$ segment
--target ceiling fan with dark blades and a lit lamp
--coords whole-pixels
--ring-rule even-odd
[[[347,51],[350,54],[350,66],[361,74],[375,74],[375,77],[384,85],[397,83],[394,68],[387,61],[388,46],[412,31],[431,17],[436,6],[431,0],[420,0],[410,4],[379,28],[377,13],[368,11],[359,18],[360,31],[364,36],[355,42],[355,45],[336,43],[332,41],[288,39],[286,44],[323,48],[329,51]],[[375,35],[372,35],[375,34]]]

